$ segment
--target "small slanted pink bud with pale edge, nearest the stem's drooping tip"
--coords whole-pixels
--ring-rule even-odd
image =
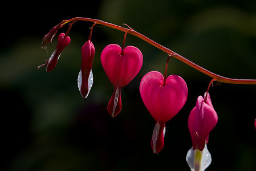
[[[52,53],[51,57],[46,62],[46,71],[52,71],[56,67],[57,61],[59,59],[60,54],[66,46],[70,44],[70,37],[65,36],[64,33],[59,35],[58,44],[55,48],[55,51]]]

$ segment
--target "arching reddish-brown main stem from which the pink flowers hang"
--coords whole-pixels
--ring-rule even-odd
[[[131,28],[124,28],[124,27],[121,27],[121,26],[113,25],[112,23],[104,22],[104,21],[101,21],[99,19],[83,18],[83,17],[75,17],[75,18],[69,19],[66,22],[64,22],[62,25],[65,25],[66,23],[69,23],[69,22],[72,22],[72,21],[95,22],[99,25],[104,25],[104,26],[107,26],[107,27],[111,27],[111,28],[114,28],[116,30],[120,30],[120,31],[123,31],[123,32],[127,32],[128,34],[137,36],[138,38],[143,39],[145,42],[148,42],[149,44],[152,44],[152,46],[155,46],[156,48],[159,48],[161,51],[164,51],[167,54],[173,56],[174,58],[180,60],[181,62],[184,62],[188,66],[202,72],[205,75],[210,76],[213,79],[216,79],[218,82],[229,83],[229,84],[256,84],[255,79],[231,79],[231,78],[226,78],[226,77],[221,76],[221,75],[214,74],[213,72],[210,72],[210,71],[206,70],[205,68],[198,66],[197,64],[191,62],[190,60],[184,58],[183,56],[169,50],[169,48],[166,48],[166,47],[162,46],[161,44],[154,42],[153,40],[149,39],[147,36],[144,36],[144,35],[140,34],[139,32],[137,32],[137,31],[135,31]]]

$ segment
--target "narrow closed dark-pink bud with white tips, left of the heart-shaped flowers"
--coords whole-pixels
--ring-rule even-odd
[[[82,63],[78,75],[78,88],[84,98],[88,96],[93,83],[92,60],[94,59],[94,52],[94,44],[88,40],[82,47]]]

